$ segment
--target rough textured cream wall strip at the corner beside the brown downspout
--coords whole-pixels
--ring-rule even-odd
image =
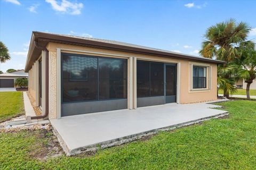
[[[49,119],[57,118],[57,52],[49,52]]]

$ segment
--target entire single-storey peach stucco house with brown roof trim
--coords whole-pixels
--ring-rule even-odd
[[[34,31],[25,71],[36,106],[54,119],[217,100],[217,65],[223,63],[117,41]]]

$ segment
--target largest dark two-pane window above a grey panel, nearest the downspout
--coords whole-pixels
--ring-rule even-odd
[[[127,98],[127,60],[62,53],[62,102]]]

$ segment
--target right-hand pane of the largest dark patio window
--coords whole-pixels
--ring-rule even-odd
[[[127,61],[99,58],[99,99],[127,98]]]

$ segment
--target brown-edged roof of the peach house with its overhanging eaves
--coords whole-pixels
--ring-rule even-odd
[[[87,38],[87,37],[78,37],[78,36],[71,36],[71,35],[62,35],[58,33],[33,31],[31,40],[30,40],[26,67],[25,67],[26,72],[28,72],[28,70],[31,68],[34,61],[36,60],[35,57],[38,58],[41,53],[39,49],[35,48],[34,41],[37,41],[37,43],[40,46],[44,46],[44,47],[49,42],[52,42],[52,43],[116,50],[116,51],[135,53],[135,54],[146,54],[146,55],[153,55],[153,56],[160,56],[160,57],[178,58],[181,60],[202,61],[206,63],[215,63],[215,64],[226,63],[223,61],[213,60],[210,58],[204,58],[204,57],[182,54],[182,53],[175,53],[169,50],[145,47],[145,46],[123,43],[123,42],[114,41],[114,40]]]

